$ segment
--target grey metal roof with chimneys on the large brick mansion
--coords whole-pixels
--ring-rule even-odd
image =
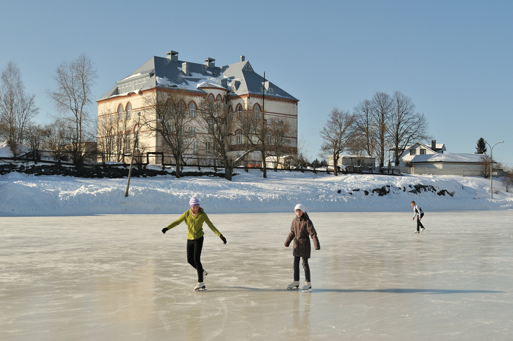
[[[98,101],[121,96],[128,92],[139,92],[152,88],[180,88],[187,91],[207,93],[202,88],[223,88],[228,98],[244,94],[262,94],[264,78],[255,73],[249,61],[241,56],[241,62],[226,66],[214,66],[214,59],[207,58],[203,64],[178,60],[178,52],[168,52],[168,58],[153,56]],[[187,74],[186,74],[187,72]],[[129,87],[130,86],[130,87]],[[265,82],[265,96],[298,101],[285,90]]]

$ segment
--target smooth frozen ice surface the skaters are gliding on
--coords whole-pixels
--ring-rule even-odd
[[[0,217],[0,339],[510,339],[513,211],[412,216],[311,213],[310,293],[286,290],[292,212],[209,215],[205,292],[179,215]]]

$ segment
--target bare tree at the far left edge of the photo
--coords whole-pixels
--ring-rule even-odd
[[[26,129],[37,115],[35,94],[25,93],[25,85],[18,67],[9,62],[0,77],[0,139],[6,140],[14,157],[18,144],[24,142]]]

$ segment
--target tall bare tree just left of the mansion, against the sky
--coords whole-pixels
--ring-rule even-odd
[[[84,130],[88,128],[88,107],[92,103],[91,86],[97,77],[91,59],[81,54],[71,63],[61,62],[53,75],[56,89],[46,91],[59,112],[59,118],[72,123],[71,151],[75,164],[84,162]]]

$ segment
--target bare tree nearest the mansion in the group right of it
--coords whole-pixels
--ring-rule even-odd
[[[337,163],[340,154],[346,149],[355,131],[354,116],[349,111],[333,108],[328,121],[320,131],[323,139],[321,152],[333,157],[333,174],[338,175]]]

